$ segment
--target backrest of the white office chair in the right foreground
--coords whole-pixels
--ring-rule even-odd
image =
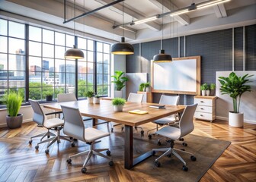
[[[187,105],[183,111],[180,120],[181,137],[184,137],[188,133],[194,130],[194,112],[196,111],[197,104]]]

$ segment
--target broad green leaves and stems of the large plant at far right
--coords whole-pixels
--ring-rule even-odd
[[[246,83],[251,83],[249,77],[253,75],[245,74],[243,77],[238,77],[234,72],[229,74],[229,77],[219,77],[220,92],[222,95],[228,94],[233,100],[233,109],[235,113],[239,112],[240,99],[243,93],[251,92],[251,86]]]

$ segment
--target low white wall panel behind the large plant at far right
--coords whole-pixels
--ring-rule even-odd
[[[221,95],[219,77],[229,77],[231,71],[216,71],[216,96],[219,98],[216,100],[216,115],[217,118],[222,120],[228,120],[229,111],[233,110],[232,98],[229,95]],[[245,74],[254,74],[250,77],[253,80],[251,85],[251,92],[246,92],[241,97],[240,112],[244,113],[245,122],[256,124],[256,71],[235,71],[238,77],[242,77]]]

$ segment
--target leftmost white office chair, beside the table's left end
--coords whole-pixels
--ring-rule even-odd
[[[60,134],[59,134],[59,132],[60,132],[60,130],[62,130],[62,126],[64,124],[63,120],[61,120],[59,118],[47,119],[46,115],[43,113],[42,108],[40,107],[39,102],[37,102],[36,100],[32,100],[32,99],[28,99],[28,101],[30,102],[30,105],[34,111],[33,121],[36,122],[38,125],[45,127],[48,130],[49,133],[47,132],[45,134],[45,136],[46,135],[53,136],[46,140],[40,140],[40,143],[37,143],[37,146],[35,146],[35,149],[38,150],[39,144],[41,144],[41,143],[50,142],[50,144],[48,144],[48,146],[47,146],[47,149],[45,150],[46,154],[48,154],[49,147],[55,142],[60,143],[60,139],[67,140],[72,143],[72,140],[69,140],[69,137],[60,136]],[[50,130],[56,130],[57,134],[51,133]],[[30,138],[30,143],[32,143],[32,137]],[[72,146],[75,146],[75,143],[72,143]]]

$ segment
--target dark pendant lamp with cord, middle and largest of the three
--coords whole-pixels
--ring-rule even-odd
[[[122,36],[121,42],[111,46],[111,53],[114,55],[133,55],[134,54],[133,45],[126,43],[124,36]]]

